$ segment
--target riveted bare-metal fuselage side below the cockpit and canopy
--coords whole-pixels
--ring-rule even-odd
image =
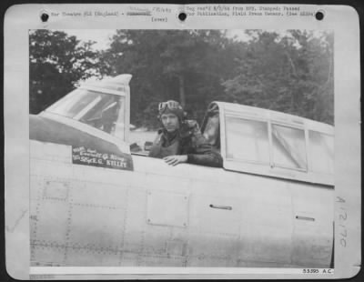
[[[30,140],[33,266],[329,267],[333,187]]]

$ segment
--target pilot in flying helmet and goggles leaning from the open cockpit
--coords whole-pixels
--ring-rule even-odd
[[[222,157],[202,136],[197,122],[186,120],[178,102],[159,103],[158,118],[163,128],[149,151],[149,156],[163,158],[170,166],[190,163],[202,166],[222,166]]]

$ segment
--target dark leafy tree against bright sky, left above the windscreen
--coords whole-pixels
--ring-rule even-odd
[[[92,49],[94,42],[81,43],[76,36],[40,29],[30,32],[29,42],[31,114],[65,96],[80,79],[108,72],[99,52]]]

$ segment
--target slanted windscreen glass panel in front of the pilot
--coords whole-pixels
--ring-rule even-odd
[[[124,138],[124,97],[76,89],[46,109]]]

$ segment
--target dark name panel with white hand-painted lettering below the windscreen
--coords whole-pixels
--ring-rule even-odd
[[[72,163],[114,169],[133,170],[131,156],[118,156],[85,146],[72,146]]]

